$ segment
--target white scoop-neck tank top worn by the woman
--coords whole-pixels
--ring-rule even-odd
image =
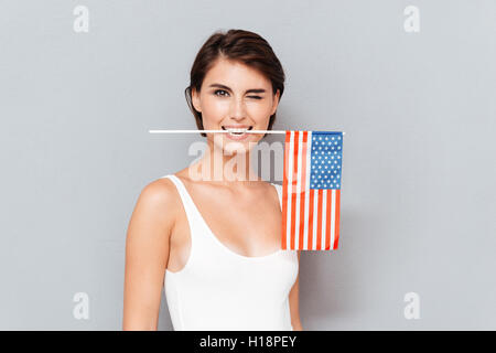
[[[292,331],[289,292],[298,250],[249,257],[225,246],[211,231],[184,183],[177,188],[191,229],[191,253],[177,272],[165,269],[164,290],[174,330]],[[273,184],[282,204],[282,186]]]

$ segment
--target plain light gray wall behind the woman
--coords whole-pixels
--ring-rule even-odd
[[[230,28],[282,62],[276,129],[346,132],[339,248],[302,254],[303,328],[496,329],[496,1],[0,4],[0,329],[121,329],[138,195],[203,140],[148,130],[196,128],[191,65]],[[73,30],[78,4],[88,33]]]

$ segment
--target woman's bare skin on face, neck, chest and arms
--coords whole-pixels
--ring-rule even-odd
[[[217,84],[223,87],[211,87]],[[252,88],[265,92],[247,93]],[[192,98],[195,109],[202,113],[204,129],[220,130],[223,125],[242,124],[266,130],[277,110],[279,90],[273,94],[271,82],[258,71],[220,57],[207,72],[201,90],[193,89]],[[246,169],[234,169],[236,180],[229,179],[233,171],[228,178],[225,168],[214,171],[214,159],[207,158],[208,153],[175,173],[215,236],[244,256],[263,256],[280,248],[277,190],[255,175],[248,163],[251,147],[262,137],[263,133],[249,133],[245,141],[231,143],[227,133],[207,133],[209,156],[222,159],[222,165],[233,158],[245,159]],[[192,178],[193,171],[201,171],[203,179]],[[214,172],[220,173],[222,179],[215,180]],[[254,218],[259,222],[254,223]],[[175,185],[169,179],[149,183],[141,191],[128,226],[123,330],[157,330],[165,268],[172,272],[181,270],[190,249],[188,223]],[[296,331],[303,330],[299,277],[289,295],[291,323]]]

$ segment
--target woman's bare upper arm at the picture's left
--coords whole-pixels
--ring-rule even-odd
[[[157,330],[175,221],[174,188],[153,181],[141,191],[126,237],[122,330]]]

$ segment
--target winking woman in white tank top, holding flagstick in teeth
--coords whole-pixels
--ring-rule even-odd
[[[162,286],[174,330],[302,330],[300,254],[280,249],[281,186],[242,163],[233,181],[225,168],[233,158],[249,165],[265,135],[244,129],[270,130],[283,89],[281,64],[256,33],[217,32],[200,50],[190,108],[198,129],[229,132],[201,132],[198,161],[142,190],[127,235],[123,330],[157,330]]]

